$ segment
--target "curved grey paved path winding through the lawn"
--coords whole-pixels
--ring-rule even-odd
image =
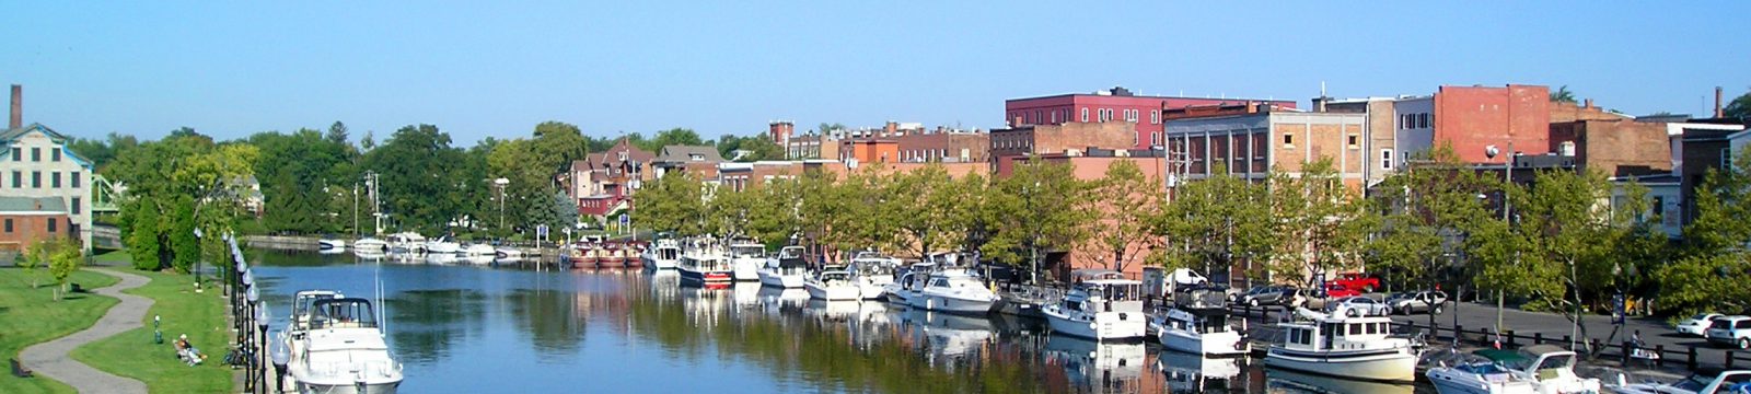
[[[145,310],[152,308],[151,298],[142,298],[135,294],[123,294],[121,291],[133,289],[152,282],[147,277],[121,273],[110,270],[96,270],[103,275],[117,277],[121,282],[95,289],[93,292],[112,296],[121,299],[116,306],[110,306],[96,324],[91,327],[61,336],[51,341],[30,345],[25,352],[19,352],[19,361],[25,368],[33,369],[37,375],[60,380],[61,383],[72,385],[74,390],[93,394],[93,392],[145,392],[145,383],[133,378],[116,376],[105,371],[98,371],[84,362],[74,361],[67,354],[75,347],[91,343],[95,340],[103,340],[119,334],[128,329],[142,327],[145,320]]]

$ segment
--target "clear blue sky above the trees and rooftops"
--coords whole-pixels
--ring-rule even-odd
[[[4,2],[0,82],[63,133],[326,128],[459,145],[770,119],[1000,126],[1003,100],[1567,84],[1628,114],[1751,89],[1751,2]]]

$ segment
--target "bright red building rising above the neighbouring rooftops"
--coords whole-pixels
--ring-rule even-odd
[[[1163,110],[1248,102],[1264,102],[1282,109],[1296,107],[1296,102],[1290,100],[1140,96],[1124,88],[1112,88],[1091,95],[1075,93],[1005,100],[1003,121],[1010,128],[1126,121],[1133,124],[1133,131],[1131,144],[1122,149],[1149,149],[1159,145],[1150,144],[1150,140],[1161,138]]]

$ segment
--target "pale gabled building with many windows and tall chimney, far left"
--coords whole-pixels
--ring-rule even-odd
[[[70,222],[60,231],[91,245],[91,161],[67,144],[70,137],[42,124],[23,124],[23,88],[12,86],[12,116],[0,131],[0,196],[54,198]]]

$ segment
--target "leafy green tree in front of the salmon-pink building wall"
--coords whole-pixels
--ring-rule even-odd
[[[1094,242],[1084,243],[1094,256],[1110,256],[1110,270],[1124,271],[1133,257],[1156,247],[1150,233],[1159,221],[1164,194],[1157,180],[1145,177],[1135,161],[1121,159],[1107,166],[1105,177],[1089,189],[1089,212],[1096,215],[1091,226]]]

